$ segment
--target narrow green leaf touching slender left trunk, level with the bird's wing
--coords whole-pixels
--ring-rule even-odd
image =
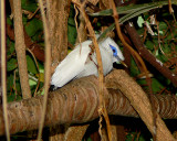
[[[27,65],[28,65],[28,70],[29,72],[31,72],[32,74],[38,73],[35,62],[32,59],[32,57],[30,55],[27,55]]]

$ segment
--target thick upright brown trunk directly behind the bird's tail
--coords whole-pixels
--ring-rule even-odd
[[[52,61],[58,65],[67,54],[67,18],[71,0],[52,0],[48,10]],[[56,63],[56,64],[55,64]]]

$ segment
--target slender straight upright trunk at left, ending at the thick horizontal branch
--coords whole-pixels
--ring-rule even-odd
[[[18,56],[18,66],[20,75],[20,84],[22,89],[23,99],[31,97],[29,85],[27,58],[25,58],[25,44],[23,35],[21,0],[13,0],[14,6],[14,36],[15,36],[15,52]]]

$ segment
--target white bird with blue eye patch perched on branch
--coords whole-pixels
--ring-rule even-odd
[[[51,77],[51,85],[54,89],[62,87],[74,78],[81,78],[88,75],[98,76],[97,61],[95,52],[91,52],[91,40],[81,45],[79,44],[55,68]],[[81,47],[82,46],[82,47]],[[124,61],[124,56],[118,45],[107,37],[98,43],[104,76],[113,69],[114,62]]]

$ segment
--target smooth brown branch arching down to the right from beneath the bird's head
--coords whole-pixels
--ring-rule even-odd
[[[126,79],[124,79],[126,77]],[[156,126],[157,130],[155,130],[154,122],[153,122],[153,112],[152,106],[149,102],[148,97],[143,91],[139,85],[133,80],[133,78],[128,77],[126,73],[122,75],[118,72],[115,72],[114,75],[108,77],[111,83],[117,85],[121,91],[128,98],[131,105],[135,108],[135,110],[140,116],[142,120],[146,123],[148,130],[152,134],[156,134],[157,141],[167,141],[167,140],[175,140],[170,134],[169,130],[167,129],[164,121],[160,119],[159,115],[157,113],[156,117]]]

